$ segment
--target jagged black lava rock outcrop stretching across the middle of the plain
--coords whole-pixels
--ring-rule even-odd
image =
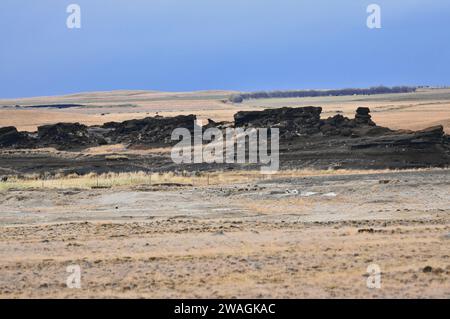
[[[241,111],[234,123],[208,121],[203,130],[216,127],[278,128],[280,132],[280,168],[416,168],[450,165],[450,137],[442,126],[421,131],[391,130],[376,125],[370,110],[360,107],[354,118],[341,114],[321,119],[321,107],[279,108],[263,111]],[[0,128],[0,148],[39,148],[52,146],[59,150],[80,150],[102,144],[123,143],[128,147],[165,147],[172,141],[176,128],[194,131],[194,115],[147,117],[124,122],[109,122],[101,126],[78,123],[58,123],[38,128],[35,133],[18,132],[14,127]],[[193,134],[192,134],[193,136]],[[9,155],[8,155],[9,156]],[[24,156],[23,154],[21,156]],[[45,159],[42,170],[72,167],[77,172],[127,170],[208,170],[228,169],[226,164],[175,165],[170,156],[129,155],[127,161],[114,163],[104,157],[76,160]],[[0,166],[15,170],[35,170],[32,161],[3,160]],[[60,164],[58,164],[60,163]],[[143,164],[145,163],[145,165]],[[23,168],[19,168],[19,164]],[[47,166],[49,167],[47,167]],[[221,166],[222,165],[222,166]],[[237,165],[238,166],[238,165]],[[248,169],[252,166],[245,166]]]

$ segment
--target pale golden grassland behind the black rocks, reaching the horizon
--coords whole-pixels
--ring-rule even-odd
[[[37,126],[55,122],[87,125],[124,121],[156,114],[196,114],[201,119],[231,121],[240,110],[272,107],[322,106],[322,117],[340,112],[353,117],[358,106],[368,106],[375,122],[393,129],[423,129],[441,124],[450,132],[450,89],[419,89],[415,93],[318,98],[255,99],[227,102],[232,91],[156,92],[112,91],[80,93],[60,97],[0,100],[0,127],[16,126],[35,131]],[[30,105],[81,104],[81,107],[33,108]],[[20,105],[20,107],[16,107]]]

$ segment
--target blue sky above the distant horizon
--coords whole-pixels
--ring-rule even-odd
[[[1,0],[0,98],[449,85],[449,39],[448,0]]]

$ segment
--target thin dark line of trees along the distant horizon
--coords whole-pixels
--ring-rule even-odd
[[[232,103],[242,103],[250,99],[270,99],[270,98],[289,98],[289,97],[318,97],[318,96],[345,96],[345,95],[373,95],[387,93],[411,93],[415,92],[417,87],[412,86],[375,86],[366,89],[337,89],[337,90],[291,90],[291,91],[259,91],[251,93],[240,93],[230,96]]]

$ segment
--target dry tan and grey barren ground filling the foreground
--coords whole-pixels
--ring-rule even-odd
[[[446,169],[9,190],[0,295],[449,298],[449,194]],[[380,289],[366,286],[372,264]]]

